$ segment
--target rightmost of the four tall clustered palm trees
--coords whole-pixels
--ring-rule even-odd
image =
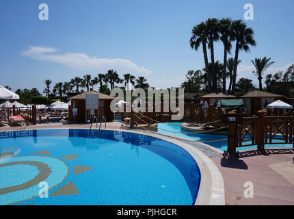
[[[230,38],[236,41],[235,63],[232,77],[232,94],[235,94],[236,90],[236,77],[238,66],[237,60],[239,60],[239,51],[244,50],[245,52],[249,52],[250,46],[256,45],[253,35],[253,29],[247,27],[247,25],[243,21],[237,20],[232,22]]]

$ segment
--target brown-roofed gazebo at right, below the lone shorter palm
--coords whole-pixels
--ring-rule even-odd
[[[254,90],[241,96],[252,115],[256,115],[258,110],[263,110],[266,105],[273,103],[282,97],[284,96],[280,94],[272,94],[260,90]]]

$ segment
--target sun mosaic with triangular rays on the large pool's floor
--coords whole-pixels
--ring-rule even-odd
[[[92,170],[94,167],[75,165],[74,170],[66,162],[57,157],[51,157],[48,150],[38,151],[31,156],[16,156],[13,153],[0,154],[0,205],[12,205],[28,201],[39,196],[39,183],[48,184],[48,190],[53,190],[49,196],[68,196],[79,194],[79,190],[72,181],[62,185],[70,172],[79,175]],[[79,155],[62,155],[71,162]],[[34,203],[31,203],[34,205]]]

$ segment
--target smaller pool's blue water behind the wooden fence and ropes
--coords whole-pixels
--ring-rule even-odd
[[[158,124],[158,127],[160,129],[165,129],[168,131],[163,131],[158,129],[159,133],[165,133],[168,135],[172,136],[178,136],[181,138],[187,138],[189,140],[195,140],[195,141],[213,141],[213,140],[221,140],[221,139],[226,139],[228,136],[226,135],[210,135],[210,134],[187,134],[184,132],[189,132],[181,129],[181,126],[174,126],[174,125],[181,125],[182,123],[168,123],[168,124],[163,124],[160,123]],[[176,131],[176,132],[182,132],[182,133],[172,133],[170,131]],[[273,140],[273,142],[281,142],[281,140]],[[228,141],[222,141],[222,142],[209,142],[205,143],[209,144],[221,151],[226,151],[228,149]],[[250,142],[247,142],[246,144],[250,144]],[[266,144],[265,147],[291,147],[292,144]],[[256,149],[256,146],[245,146],[242,148],[237,149],[237,151],[243,151],[243,150],[248,150],[248,149]]]

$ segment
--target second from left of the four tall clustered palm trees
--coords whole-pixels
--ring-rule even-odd
[[[215,53],[213,42],[219,40],[219,20],[217,18],[209,18],[206,21],[208,31],[209,49],[211,51],[211,75],[213,82],[213,91],[217,90],[217,75],[215,73]]]

